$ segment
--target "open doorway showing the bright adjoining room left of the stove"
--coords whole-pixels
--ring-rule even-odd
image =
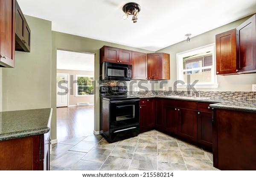
[[[94,58],[92,53],[57,50],[58,141],[93,135]]]

